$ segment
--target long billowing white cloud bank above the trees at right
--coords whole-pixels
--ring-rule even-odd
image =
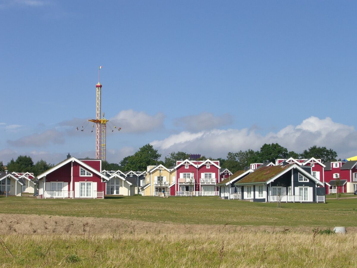
[[[254,130],[227,129],[191,133],[183,131],[151,144],[160,153],[168,154],[182,150],[212,157],[226,157],[228,152],[258,150],[264,143],[279,143],[288,150],[302,152],[313,145],[336,150],[341,158],[357,154],[357,132],[353,126],[333,122],[331,118],[319,119],[311,116],[297,126],[288,125],[276,133],[261,135]]]

